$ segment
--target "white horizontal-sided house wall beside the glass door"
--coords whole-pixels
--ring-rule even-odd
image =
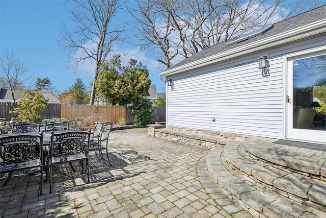
[[[284,138],[283,55],[321,45],[325,34],[173,76],[167,127]],[[257,58],[267,53],[270,67],[264,75]]]

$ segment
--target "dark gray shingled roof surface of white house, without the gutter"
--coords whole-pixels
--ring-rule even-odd
[[[198,60],[201,60],[201,59],[204,59],[204,58],[207,58],[207,57],[210,57],[210,56],[222,53],[222,52],[226,52],[226,51],[235,49],[238,46],[253,43],[255,41],[259,41],[259,40],[267,38],[267,37],[275,36],[277,34],[281,34],[281,33],[296,29],[296,28],[300,28],[304,25],[308,25],[309,23],[316,22],[318,20],[322,20],[325,18],[326,18],[326,5],[318,7],[316,9],[313,9],[310,11],[307,11],[302,14],[293,16],[293,17],[285,19],[283,21],[274,23],[274,28],[263,33],[262,35],[254,37],[254,38],[250,38],[245,41],[240,41],[236,44],[232,44],[232,45],[228,45],[228,46],[227,46],[228,42],[230,42],[232,40],[208,47],[207,49],[202,50],[199,53],[194,54],[194,55],[184,59],[183,61],[171,66],[167,70],[170,70],[170,69],[173,69],[173,68],[176,68],[179,66],[183,66],[185,64],[192,63],[194,61],[198,61]],[[236,40],[236,39],[233,39],[233,40]]]

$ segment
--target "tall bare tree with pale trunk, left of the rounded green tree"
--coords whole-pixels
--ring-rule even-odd
[[[106,58],[114,52],[113,42],[121,40],[120,27],[112,23],[118,8],[122,5],[122,0],[71,0],[74,8],[70,11],[73,20],[77,23],[75,29],[68,29],[63,25],[59,29],[61,34],[61,45],[70,53],[72,65],[77,68],[85,60],[95,62],[95,74],[92,84],[90,105],[94,104],[95,82],[98,79],[98,68]],[[78,54],[78,55],[76,55]]]

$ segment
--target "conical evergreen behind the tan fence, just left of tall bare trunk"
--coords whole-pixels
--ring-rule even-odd
[[[74,84],[68,88],[68,90],[63,91],[59,95],[60,99],[78,99],[78,100],[89,100],[90,95],[88,94],[87,87],[83,81],[79,78],[76,79]]]

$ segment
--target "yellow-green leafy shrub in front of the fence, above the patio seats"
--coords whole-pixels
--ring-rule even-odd
[[[39,123],[41,115],[38,112],[47,108],[48,100],[43,96],[43,91],[24,90],[23,98],[17,100],[17,106],[10,113],[17,113],[18,118],[31,119],[32,123]]]

